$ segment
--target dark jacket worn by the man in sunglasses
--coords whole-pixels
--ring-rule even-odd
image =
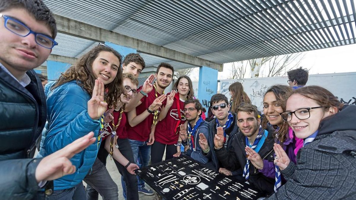
[[[239,132],[239,127],[237,126],[237,116],[234,112],[231,112],[232,116],[234,116],[234,120],[229,128],[226,128],[226,134],[229,135],[229,139],[227,140],[227,149],[231,148],[232,141],[234,140],[235,134]],[[216,120],[209,122],[209,138],[208,144],[210,150],[214,149],[214,137],[216,135]],[[209,163],[207,164],[209,168],[219,170],[219,168],[226,168],[224,165],[221,165],[214,151],[209,151],[208,154],[204,154],[204,156],[209,158]],[[242,170],[238,169],[234,174],[242,174]]]

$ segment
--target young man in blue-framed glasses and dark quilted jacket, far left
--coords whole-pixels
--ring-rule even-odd
[[[0,196],[32,199],[51,181],[75,172],[70,158],[95,142],[93,133],[42,159],[32,158],[46,122],[46,98],[32,70],[48,58],[57,28],[41,0],[0,1]]]

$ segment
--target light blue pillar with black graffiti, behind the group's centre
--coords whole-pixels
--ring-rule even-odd
[[[218,70],[202,66],[199,68],[198,99],[208,110],[211,96],[218,91]]]

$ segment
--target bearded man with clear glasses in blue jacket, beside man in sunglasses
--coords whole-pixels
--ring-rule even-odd
[[[188,121],[187,128],[182,124],[179,131],[182,144],[187,146],[187,148],[184,148],[184,152],[194,160],[206,164],[209,159],[203,156],[203,152],[199,146],[200,137],[209,138],[208,122],[201,118],[203,106],[198,99],[187,99],[184,102],[183,111],[185,119]]]

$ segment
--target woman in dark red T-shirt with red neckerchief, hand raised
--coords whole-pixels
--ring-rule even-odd
[[[180,127],[187,127],[184,116],[184,101],[194,96],[193,84],[188,76],[181,76],[173,86],[173,91],[167,94],[167,100],[159,113],[159,122],[155,130],[155,143],[152,144],[151,162],[162,161],[164,151],[166,158],[179,156],[182,141],[178,141]],[[178,143],[177,143],[178,141]]]

